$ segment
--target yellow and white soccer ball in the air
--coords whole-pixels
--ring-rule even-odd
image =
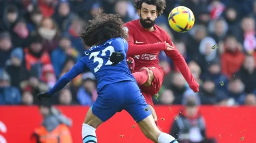
[[[173,8],[168,17],[170,27],[176,32],[189,31],[194,23],[195,17],[193,12],[184,6]]]

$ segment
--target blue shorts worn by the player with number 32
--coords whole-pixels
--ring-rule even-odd
[[[126,110],[136,122],[151,114],[138,85],[132,81],[104,86],[91,106],[92,113],[105,122],[115,113]]]

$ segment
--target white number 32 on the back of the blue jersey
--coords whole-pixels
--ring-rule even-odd
[[[107,56],[107,54],[106,54],[106,52],[107,51],[110,51],[110,55],[109,55],[109,58],[108,58],[108,61],[107,61],[107,63],[105,64],[105,65],[111,65],[112,64],[112,62],[110,61],[110,56],[112,55],[112,53],[114,52],[114,47],[113,46],[108,46],[108,47],[106,47],[106,48],[104,48],[101,52],[102,52],[102,54],[101,54],[101,56]],[[100,51],[95,51],[95,52],[92,52],[91,54],[90,54],[90,57],[89,57],[89,59],[91,59],[91,57],[94,57],[94,63],[95,62],[98,62],[99,64],[98,64],[98,66],[94,69],[94,72],[96,73],[97,71],[99,71],[99,69],[102,67],[102,65],[103,65],[103,59],[102,58],[100,58],[100,57],[98,57],[98,55],[100,54]]]

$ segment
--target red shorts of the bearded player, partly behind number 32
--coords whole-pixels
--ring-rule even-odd
[[[162,81],[164,80],[164,72],[161,67],[147,67],[154,74],[154,80],[150,87],[146,87],[144,85],[139,86],[143,96],[145,97],[146,103],[152,107],[154,107],[153,96],[156,95],[161,86]]]

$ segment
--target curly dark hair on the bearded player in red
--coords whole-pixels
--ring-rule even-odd
[[[138,0],[134,3],[135,9],[141,10],[143,3],[146,3],[148,5],[155,5],[156,10],[158,12],[157,16],[161,16],[162,12],[164,12],[164,10],[166,8],[165,0]]]

